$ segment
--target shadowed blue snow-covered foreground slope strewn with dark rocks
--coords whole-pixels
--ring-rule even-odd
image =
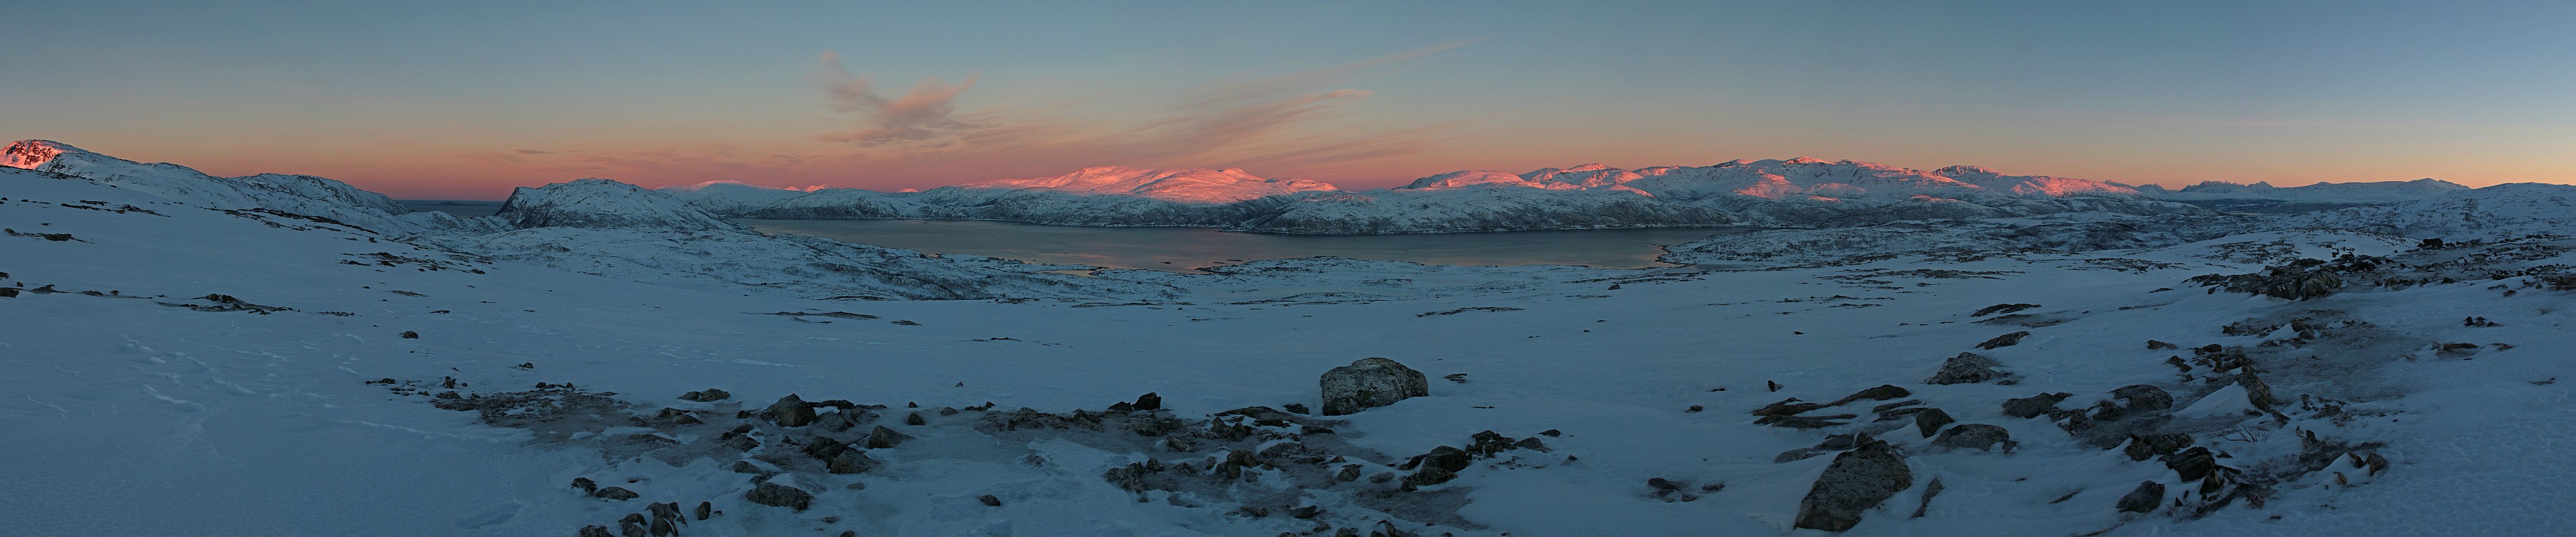
[[[605,181],[549,188],[523,217],[605,217],[538,199],[696,217]],[[1685,268],[1303,258],[1082,279],[618,227],[636,219],[397,238],[0,168],[0,522],[2568,534],[2576,238],[2548,235],[2576,217],[2568,191],[2308,214],[2360,222],[2342,232],[2226,219],[2105,243],[2136,222],[1978,219],[1852,256],[1741,256],[1723,235]],[[925,271],[945,276],[884,281]],[[1005,284],[961,287],[987,276]],[[974,299],[902,299],[933,289]],[[1419,369],[1430,395],[1283,413],[1321,408],[1319,374],[1365,356]],[[1157,410],[1136,410],[1146,392]]]

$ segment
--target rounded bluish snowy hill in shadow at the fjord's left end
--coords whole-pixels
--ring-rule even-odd
[[[580,178],[538,188],[520,186],[495,214],[513,227],[690,230],[744,232],[670,194],[608,178]]]

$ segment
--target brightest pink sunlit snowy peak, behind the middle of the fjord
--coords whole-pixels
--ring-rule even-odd
[[[1340,191],[1332,183],[1303,178],[1260,178],[1242,168],[1177,168],[1149,170],[1126,165],[1082,168],[1054,178],[1002,178],[963,183],[951,188],[1005,188],[1005,191],[1056,191],[1074,196],[1141,196],[1180,204],[1234,204],[1247,199],[1285,196],[1301,191]]]

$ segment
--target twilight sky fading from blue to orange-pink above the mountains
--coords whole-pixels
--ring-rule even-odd
[[[397,199],[1824,157],[2576,183],[2576,3],[13,3],[0,137]]]

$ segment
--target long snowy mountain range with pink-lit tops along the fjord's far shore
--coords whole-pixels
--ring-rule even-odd
[[[1193,225],[1244,232],[1502,232],[1615,227],[1847,227],[1937,217],[2058,212],[2200,212],[2133,188],[1953,165],[1909,170],[1873,163],[1736,160],[1708,168],[1607,165],[1533,173],[1458,170],[1383,191],[1257,178],[1244,170],[1087,168],[930,191],[814,194],[775,188],[672,188],[726,217],[1010,219],[1036,225]]]

